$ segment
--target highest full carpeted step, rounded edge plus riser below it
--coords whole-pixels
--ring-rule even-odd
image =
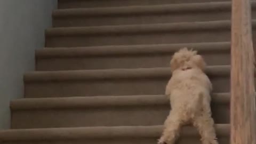
[[[252,1],[254,10],[256,1]],[[252,16],[256,11],[253,11]],[[55,10],[53,27],[133,25],[229,20],[231,2],[136,5]]]

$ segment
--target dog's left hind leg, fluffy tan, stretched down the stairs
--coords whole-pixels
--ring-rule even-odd
[[[164,123],[164,131],[158,144],[174,144],[179,137],[181,119],[178,115],[170,113]]]

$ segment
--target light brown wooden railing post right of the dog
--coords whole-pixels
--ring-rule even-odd
[[[230,144],[256,143],[250,0],[232,0]]]

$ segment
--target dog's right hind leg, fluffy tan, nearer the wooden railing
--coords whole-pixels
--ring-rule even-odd
[[[194,119],[194,126],[201,135],[203,144],[218,144],[214,129],[214,121],[209,113],[204,113]]]

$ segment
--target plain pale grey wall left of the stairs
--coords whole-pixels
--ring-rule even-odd
[[[0,129],[9,129],[9,102],[23,97],[23,74],[34,70],[56,0],[0,0]]]

